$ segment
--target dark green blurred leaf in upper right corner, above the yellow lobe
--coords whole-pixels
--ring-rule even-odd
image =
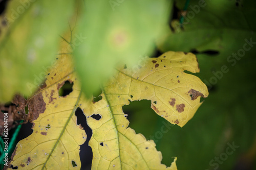
[[[255,1],[242,1],[238,6],[235,1],[199,2],[203,1],[190,1],[183,31],[180,31],[180,23],[173,21],[175,32],[169,29],[163,33],[165,38],[158,41],[162,52],[212,50],[230,55],[233,49],[243,47],[246,38],[249,40],[253,37],[252,41],[256,41],[256,24],[252,15],[256,9]],[[177,2],[180,10],[184,5],[185,0]]]

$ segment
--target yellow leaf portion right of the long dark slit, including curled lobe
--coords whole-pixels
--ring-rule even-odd
[[[208,95],[199,78],[183,72],[199,71],[196,56],[191,53],[167,52],[143,63],[137,71],[129,66],[117,69],[102,88],[102,100],[81,106],[93,130],[89,142],[94,155],[92,169],[165,169],[154,141],[127,128],[129,121],[122,106],[129,100],[151,100],[157,114],[182,127],[201,105],[198,96]],[[93,114],[101,119],[90,117]],[[175,162],[168,169],[176,169]]]

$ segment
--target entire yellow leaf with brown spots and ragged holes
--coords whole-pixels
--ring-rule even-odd
[[[79,145],[87,136],[76,124],[74,112],[79,107],[93,132],[89,141],[92,169],[177,169],[176,158],[170,167],[161,164],[162,154],[155,142],[128,127],[122,106],[151,100],[157,114],[184,126],[201,105],[200,97],[208,95],[199,78],[183,72],[199,71],[195,55],[167,52],[159,58],[144,59],[137,67],[122,65],[102,87],[98,102],[82,94],[72,56],[59,55],[56,61],[45,86],[29,99],[29,109],[38,108],[29,113],[33,133],[18,142],[9,167],[80,169]],[[62,97],[58,90],[65,81],[74,83],[73,91]]]

